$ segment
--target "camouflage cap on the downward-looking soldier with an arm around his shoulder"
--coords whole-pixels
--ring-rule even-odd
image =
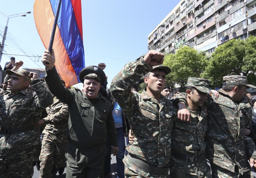
[[[196,89],[204,93],[212,93],[212,91],[208,89],[209,85],[210,81],[207,79],[188,77],[186,87],[195,87]]]

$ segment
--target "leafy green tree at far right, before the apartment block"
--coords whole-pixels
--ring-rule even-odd
[[[202,78],[209,79],[212,86],[221,86],[226,75],[247,76],[248,82],[256,83],[256,37],[246,40],[232,39],[215,49]]]

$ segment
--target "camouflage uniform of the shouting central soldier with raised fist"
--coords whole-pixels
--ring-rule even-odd
[[[126,64],[110,85],[112,96],[127,113],[135,139],[126,147],[129,154],[123,159],[126,177],[166,177],[169,169],[175,114],[172,103],[161,95],[158,104],[145,89],[141,94],[131,92],[132,85],[150,70],[152,67],[141,57]],[[134,160],[147,163],[151,169],[135,166]]]

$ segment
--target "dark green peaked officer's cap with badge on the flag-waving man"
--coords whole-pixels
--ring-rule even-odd
[[[106,74],[98,66],[87,66],[81,70],[79,79],[82,83],[84,83],[84,79],[87,78],[93,78],[99,81],[101,84],[104,84],[106,81]]]

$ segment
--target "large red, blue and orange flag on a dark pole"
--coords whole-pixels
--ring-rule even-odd
[[[38,34],[49,48],[53,22],[59,0],[35,0],[34,19]],[[66,86],[79,83],[85,67],[81,0],[62,0],[52,48],[55,67]]]

